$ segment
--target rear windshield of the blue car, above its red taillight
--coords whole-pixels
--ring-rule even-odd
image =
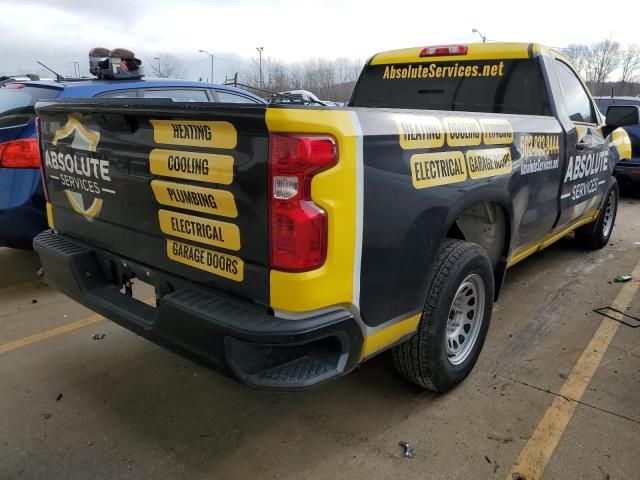
[[[15,84],[0,88],[0,128],[31,122],[35,118],[34,105],[40,100],[57,97],[59,92],[53,88],[16,88]]]

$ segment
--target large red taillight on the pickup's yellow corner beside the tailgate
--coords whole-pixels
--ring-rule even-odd
[[[271,266],[301,272],[320,267],[327,256],[327,213],[311,199],[314,175],[338,161],[331,137],[271,135]]]

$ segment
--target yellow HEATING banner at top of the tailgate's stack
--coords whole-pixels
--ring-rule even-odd
[[[150,120],[153,140],[167,145],[236,148],[238,132],[229,122],[201,120]]]

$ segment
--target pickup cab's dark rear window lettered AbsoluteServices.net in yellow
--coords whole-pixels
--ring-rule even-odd
[[[551,115],[535,60],[369,65],[362,72],[352,105]]]

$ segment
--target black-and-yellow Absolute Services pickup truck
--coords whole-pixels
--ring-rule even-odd
[[[607,244],[612,173],[630,156],[568,60],[537,44],[379,53],[345,108],[88,99],[37,112],[48,282],[269,389],[387,349],[409,381],[453,388],[508,267],[572,233]]]

